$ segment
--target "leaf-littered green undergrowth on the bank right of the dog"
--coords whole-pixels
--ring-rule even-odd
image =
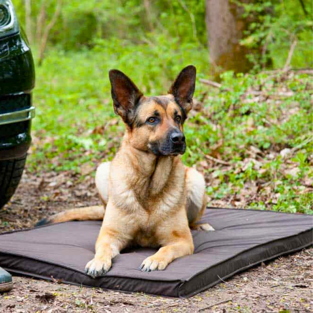
[[[270,197],[277,197],[266,199],[272,209],[312,214],[312,193],[304,192],[301,182],[304,177],[312,181],[308,158],[312,154],[312,90],[311,86],[305,87],[310,78],[297,76],[290,80],[294,92],[278,99],[275,98],[281,84],[276,79],[266,74],[240,74],[233,78],[233,73],[224,73],[223,87],[231,91],[214,94],[205,101],[209,117],[199,113],[188,121],[185,128],[188,148],[183,161],[191,166],[201,162],[205,155],[217,152],[223,160],[229,160],[229,169],[207,170],[212,172],[211,179],[219,181],[207,189],[214,199],[240,194],[249,182],[268,182]],[[263,86],[267,96],[273,96],[279,105],[275,101],[253,101],[251,89],[258,86]],[[249,98],[251,101],[247,101]],[[251,160],[243,166],[250,157],[251,146],[259,149],[264,160],[260,164]],[[296,167],[295,172],[288,171],[280,154],[270,152],[284,148],[301,151],[288,161],[291,168]],[[262,201],[250,205],[265,208]]]

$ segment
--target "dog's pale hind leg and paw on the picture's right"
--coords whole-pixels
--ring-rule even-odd
[[[207,205],[207,196],[205,194],[205,180],[203,175],[192,167],[186,167],[186,211],[191,229],[202,229],[213,231],[214,228],[208,224],[196,224],[202,217]]]

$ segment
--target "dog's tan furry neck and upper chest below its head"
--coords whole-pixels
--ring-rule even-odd
[[[123,177],[117,173],[111,172],[109,197],[117,208],[132,215],[140,228],[151,229],[185,205],[185,171],[181,162],[172,164],[169,158],[163,158],[150,172],[128,169]]]

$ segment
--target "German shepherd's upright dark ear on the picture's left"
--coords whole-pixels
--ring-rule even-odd
[[[117,69],[109,71],[114,111],[131,126],[135,106],[143,95],[124,73]]]

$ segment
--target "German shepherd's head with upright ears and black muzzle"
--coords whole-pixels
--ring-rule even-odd
[[[185,67],[168,94],[156,97],[145,97],[119,70],[110,70],[109,77],[114,111],[127,126],[129,143],[155,155],[183,154],[183,123],[192,108],[196,68]]]

